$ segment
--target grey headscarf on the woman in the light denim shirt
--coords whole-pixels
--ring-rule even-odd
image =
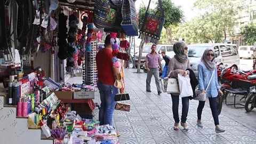
[[[213,51],[214,54],[214,58],[212,60],[208,60],[206,54],[209,51]],[[209,70],[214,70],[214,68],[216,67],[216,63],[215,63],[215,50],[212,47],[208,47],[203,54],[203,57],[201,58],[201,61],[204,63],[204,65],[206,66],[207,69]]]

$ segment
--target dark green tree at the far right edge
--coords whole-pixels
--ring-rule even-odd
[[[254,24],[246,25],[241,34],[244,37],[246,44],[252,45],[256,42],[256,26]]]

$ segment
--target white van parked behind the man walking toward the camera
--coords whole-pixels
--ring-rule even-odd
[[[142,55],[141,55],[140,67],[142,67],[144,65],[146,55],[151,52],[151,46],[152,45],[145,45],[143,47]],[[174,55],[175,55],[175,53],[173,52],[173,45],[158,44],[156,46],[156,52],[161,55],[162,51],[165,51],[166,55],[168,55],[171,58],[174,57]],[[162,58],[162,55],[161,55],[161,58]],[[138,59],[139,59],[139,53],[136,53],[135,54],[135,67],[137,67]]]

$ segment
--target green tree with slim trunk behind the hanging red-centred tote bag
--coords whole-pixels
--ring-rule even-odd
[[[150,5],[152,5],[152,3]],[[158,3],[156,2],[155,5],[156,5],[156,8],[149,9],[148,12],[154,13],[155,15],[162,17]],[[178,23],[180,23],[183,20],[183,11],[180,9],[180,6],[174,5],[171,0],[162,0],[162,7],[163,7],[163,11],[164,11],[164,16],[165,16],[164,28],[167,29],[170,27],[170,25],[178,25]],[[140,5],[140,10],[138,13],[139,28],[141,28],[141,26],[145,20],[144,18],[145,18],[146,10],[147,10],[146,5]],[[162,36],[161,36],[161,39],[162,39]],[[167,41],[167,38],[164,41]],[[140,61],[141,61],[141,55],[142,55],[142,50],[143,50],[144,44],[145,44],[145,42],[142,40],[140,43],[140,46],[139,46],[139,58],[138,58],[138,65],[137,65],[137,73],[140,73]]]

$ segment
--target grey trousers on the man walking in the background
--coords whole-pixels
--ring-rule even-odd
[[[150,82],[151,82],[152,75],[154,75],[155,77],[157,91],[161,92],[158,68],[149,68],[149,71],[147,74],[147,80],[146,80],[146,90],[150,91]]]

